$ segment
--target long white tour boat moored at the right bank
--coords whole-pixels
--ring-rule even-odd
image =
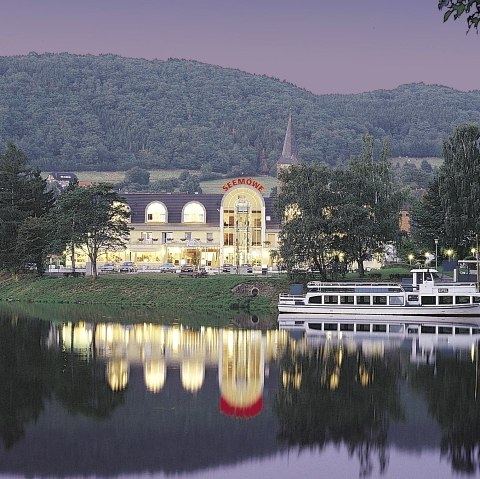
[[[311,281],[307,293],[280,294],[280,313],[369,316],[478,316],[475,283],[440,282],[435,269],[413,269],[408,285]]]

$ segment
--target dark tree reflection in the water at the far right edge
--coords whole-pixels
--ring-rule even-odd
[[[410,372],[412,386],[427,400],[442,429],[441,452],[455,471],[480,470],[480,398],[478,351],[475,361],[442,357]]]

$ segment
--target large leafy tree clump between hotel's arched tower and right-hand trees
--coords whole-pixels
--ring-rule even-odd
[[[311,265],[325,278],[343,253],[363,276],[363,262],[398,237],[404,195],[393,189],[386,141],[379,158],[374,138],[366,135],[347,169],[303,164],[280,172],[279,179],[280,256],[289,271]]]

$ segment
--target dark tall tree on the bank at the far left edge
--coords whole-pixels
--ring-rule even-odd
[[[54,202],[53,192],[47,190],[46,181],[40,172],[27,165],[26,155],[13,144],[8,144],[0,155],[0,267],[19,271],[23,264],[35,262],[37,270],[43,272],[46,244],[39,241],[36,253],[22,247],[24,234],[33,233],[29,227],[40,223]],[[20,237],[19,231],[22,231]]]

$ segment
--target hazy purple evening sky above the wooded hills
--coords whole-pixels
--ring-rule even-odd
[[[183,58],[316,94],[480,89],[480,35],[438,0],[0,0],[0,56]]]

